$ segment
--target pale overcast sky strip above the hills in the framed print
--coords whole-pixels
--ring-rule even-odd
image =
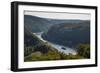
[[[42,18],[51,19],[80,19],[80,20],[90,20],[90,14],[84,13],[68,13],[68,12],[42,12],[42,11],[24,11],[25,15],[33,15]]]

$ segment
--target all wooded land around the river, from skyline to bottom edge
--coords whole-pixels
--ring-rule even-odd
[[[65,54],[43,42],[34,33],[44,32],[47,41],[74,47],[77,54]],[[24,61],[73,60],[90,58],[90,21],[57,20],[24,16]]]

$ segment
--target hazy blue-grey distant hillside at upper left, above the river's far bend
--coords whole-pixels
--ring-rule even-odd
[[[30,29],[31,32],[47,31],[51,26],[50,21],[44,18],[24,15],[24,25]]]

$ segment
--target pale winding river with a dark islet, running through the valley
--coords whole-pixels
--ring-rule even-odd
[[[77,52],[75,51],[74,48],[69,48],[67,46],[63,46],[63,45],[59,45],[59,44],[55,44],[55,43],[51,43],[47,40],[44,40],[41,35],[43,34],[43,32],[38,32],[38,33],[33,33],[34,35],[36,35],[40,40],[42,40],[43,42],[48,42],[52,47],[56,48],[59,52],[63,52],[65,54],[69,54],[71,53],[72,55],[76,55]]]

